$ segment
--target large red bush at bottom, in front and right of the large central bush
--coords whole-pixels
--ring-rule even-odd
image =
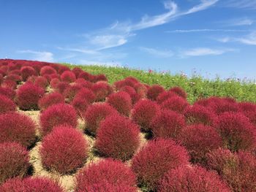
[[[157,189],[168,170],[186,164],[189,164],[187,150],[171,139],[151,140],[132,158],[138,183],[149,191]]]

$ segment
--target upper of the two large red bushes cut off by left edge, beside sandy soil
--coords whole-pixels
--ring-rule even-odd
[[[29,116],[18,112],[0,115],[0,143],[19,142],[28,147],[36,138],[35,129],[35,123]]]

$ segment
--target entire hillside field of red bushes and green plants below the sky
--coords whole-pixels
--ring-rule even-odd
[[[256,191],[256,85],[0,60],[0,191]]]

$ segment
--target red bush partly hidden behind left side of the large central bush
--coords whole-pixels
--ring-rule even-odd
[[[92,104],[86,110],[83,118],[86,120],[86,131],[95,135],[99,123],[108,117],[108,115],[116,115],[118,112],[107,103]]]

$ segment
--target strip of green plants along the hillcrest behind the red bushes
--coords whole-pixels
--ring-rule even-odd
[[[70,68],[75,65],[66,64]],[[77,66],[77,65],[76,65]],[[127,69],[122,67],[109,66],[79,66],[86,72],[92,74],[105,74],[110,84],[125,77],[136,77],[140,82],[148,85],[159,84],[165,88],[180,86],[188,93],[188,101],[193,103],[198,97],[208,96],[230,96],[238,101],[256,102],[256,84],[255,82],[244,82],[238,80],[208,80],[194,75],[193,77],[184,77],[181,74],[161,74],[158,72],[145,72],[142,70]]]

